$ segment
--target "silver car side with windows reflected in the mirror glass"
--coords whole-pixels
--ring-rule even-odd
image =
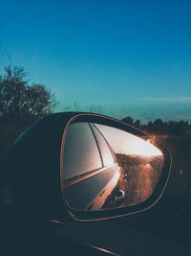
[[[110,195],[117,187],[120,167],[114,151],[96,125],[74,123],[69,126],[63,162],[63,182],[69,207],[98,210],[106,199],[112,204]]]

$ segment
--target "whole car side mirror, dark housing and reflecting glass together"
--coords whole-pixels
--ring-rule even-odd
[[[14,198],[25,215],[78,221],[117,218],[153,206],[171,169],[169,151],[116,119],[66,112],[32,124],[10,157]]]

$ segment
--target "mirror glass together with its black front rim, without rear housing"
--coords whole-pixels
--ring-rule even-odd
[[[117,120],[75,116],[65,128],[60,155],[62,195],[70,216],[111,218],[154,205],[168,179],[170,156],[153,143]]]

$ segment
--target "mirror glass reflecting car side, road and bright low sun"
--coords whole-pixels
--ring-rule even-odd
[[[154,192],[164,156],[129,132],[92,123],[69,125],[62,176],[65,198],[74,210],[136,205]]]

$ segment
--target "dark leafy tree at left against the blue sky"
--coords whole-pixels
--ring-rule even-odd
[[[30,122],[53,112],[58,103],[51,90],[42,84],[29,85],[22,67],[9,66],[5,71],[6,74],[0,76],[1,121]]]

